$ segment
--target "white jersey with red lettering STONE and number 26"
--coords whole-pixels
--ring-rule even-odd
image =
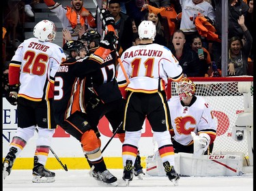
[[[18,46],[9,65],[10,80],[20,82],[18,96],[32,101],[48,98],[49,93],[53,94],[50,89],[63,60],[66,60],[66,54],[57,44],[36,38],[25,40]]]

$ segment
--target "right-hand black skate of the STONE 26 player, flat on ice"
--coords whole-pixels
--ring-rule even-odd
[[[35,183],[49,183],[55,181],[55,173],[48,171],[43,164],[36,163],[33,167],[33,179]]]

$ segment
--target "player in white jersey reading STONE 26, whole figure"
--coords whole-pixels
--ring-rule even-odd
[[[18,46],[9,65],[6,99],[17,105],[18,128],[3,160],[3,179],[10,175],[14,160],[38,129],[33,162],[33,182],[53,182],[55,173],[44,166],[55,132],[52,102],[54,77],[61,61],[66,60],[61,47],[53,44],[55,24],[42,20],[33,35]]]

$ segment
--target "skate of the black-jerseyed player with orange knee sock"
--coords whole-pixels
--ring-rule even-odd
[[[112,175],[108,170],[98,173],[92,171],[92,176],[98,181],[103,181],[111,186],[117,186],[117,177]]]

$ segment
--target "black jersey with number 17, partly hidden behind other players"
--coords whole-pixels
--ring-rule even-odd
[[[115,60],[116,54],[115,51],[112,51],[104,59],[100,69],[90,74],[94,92],[103,103],[122,99],[116,80]]]

